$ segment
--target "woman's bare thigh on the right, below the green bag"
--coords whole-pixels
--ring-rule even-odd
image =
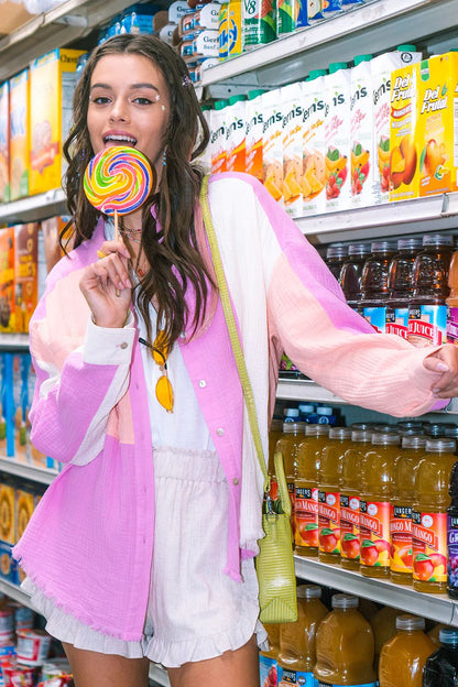
[[[259,687],[257,640],[253,636],[244,646],[216,658],[168,668],[168,677],[172,687]]]

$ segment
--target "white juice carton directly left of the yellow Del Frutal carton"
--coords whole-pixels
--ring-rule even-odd
[[[391,73],[421,59],[422,53],[416,52],[415,45],[399,45],[397,50],[371,59],[375,151],[372,181],[378,203],[388,203],[390,199]]]

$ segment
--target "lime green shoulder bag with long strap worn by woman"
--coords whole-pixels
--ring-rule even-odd
[[[271,483],[262,450],[253,390],[240,345],[221,255],[211,221],[210,208],[208,205],[208,176],[205,176],[203,179],[200,205],[226,325],[243,390],[251,433],[253,435],[259,465],[264,477],[262,528],[265,536],[258,543],[260,552],[255,558],[259,582],[260,620],[264,623],[294,622],[297,620],[296,578],[290,520],[291,501],[287,491],[283,456],[277,452],[274,457],[275,475],[279,482],[279,498],[273,501],[273,499],[271,499]]]

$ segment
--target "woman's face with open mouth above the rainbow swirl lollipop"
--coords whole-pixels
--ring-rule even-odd
[[[95,153],[131,145],[155,166],[160,178],[170,118],[161,70],[143,55],[105,55],[90,80],[87,126]]]

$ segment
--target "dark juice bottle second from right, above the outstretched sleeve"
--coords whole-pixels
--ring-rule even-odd
[[[400,239],[397,254],[390,263],[388,275],[386,334],[407,338],[408,304],[413,294],[414,262],[422,248],[422,239]]]

